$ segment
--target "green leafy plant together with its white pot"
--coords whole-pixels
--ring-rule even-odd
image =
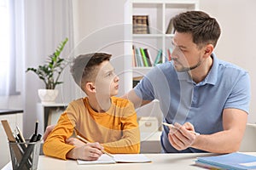
[[[63,82],[59,81],[61,72],[67,66],[67,61],[60,57],[63,48],[65,47],[68,38],[66,37],[59,46],[55,49],[55,52],[49,55],[44,65],[38,65],[38,68],[29,67],[27,71],[33,71],[38,75],[38,78],[44,81],[45,89],[38,89],[38,95],[42,103],[52,103],[58,95],[58,90],[55,89],[56,85]]]

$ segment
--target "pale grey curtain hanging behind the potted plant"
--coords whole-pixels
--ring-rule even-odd
[[[18,0],[17,0],[18,1]],[[69,52],[73,49],[73,2],[72,0],[24,0],[24,23],[25,23],[25,68],[38,67],[44,64],[49,54],[55,51],[65,37],[68,42],[61,53],[61,57],[67,58]],[[65,75],[64,70],[62,80],[65,84],[72,82],[67,80],[70,77],[69,72]],[[65,78],[65,80],[64,80]],[[37,75],[27,72],[24,76],[25,88],[24,98],[24,134],[29,136],[33,124],[37,120],[37,105],[40,102],[38,98],[38,89],[44,88],[44,82],[38,79]],[[57,87],[59,96],[56,102],[64,103],[61,92],[69,92],[70,87]],[[69,94],[65,94],[69,95]],[[70,99],[68,99],[70,101]]]

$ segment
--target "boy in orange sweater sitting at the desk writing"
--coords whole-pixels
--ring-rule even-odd
[[[113,73],[110,54],[82,54],[73,60],[74,81],[87,94],[67,106],[44,141],[44,155],[61,159],[97,160],[102,150],[139,153],[137,115],[127,99],[118,94],[119,77]],[[70,138],[73,131],[91,143]]]

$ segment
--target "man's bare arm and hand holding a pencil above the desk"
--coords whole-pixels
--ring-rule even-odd
[[[194,127],[190,123],[175,125],[179,130],[169,133],[169,141],[177,150],[193,147],[213,153],[230,153],[239,150],[247,124],[247,113],[238,109],[224,109],[224,131],[196,136],[189,132]]]

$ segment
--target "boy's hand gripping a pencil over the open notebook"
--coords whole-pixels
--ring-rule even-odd
[[[67,158],[96,161],[102,156],[103,147],[99,143],[88,143],[75,147],[67,153]]]

